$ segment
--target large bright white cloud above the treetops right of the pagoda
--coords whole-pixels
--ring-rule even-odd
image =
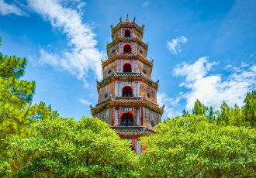
[[[195,63],[182,63],[175,67],[175,75],[185,77],[180,86],[189,89],[183,96],[186,99],[186,108],[192,109],[196,99],[203,104],[219,108],[225,101],[230,106],[243,105],[247,92],[255,90],[256,65],[241,64],[233,67],[233,73],[222,77],[220,74],[209,74],[211,67],[207,57],[201,57]],[[231,68],[228,66],[227,68]]]

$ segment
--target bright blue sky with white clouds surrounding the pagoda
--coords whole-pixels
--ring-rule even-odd
[[[109,26],[129,13],[145,25],[165,119],[191,110],[197,98],[216,109],[223,101],[242,105],[255,90],[255,9],[254,0],[0,0],[0,51],[28,60],[33,102],[79,119],[97,103]]]

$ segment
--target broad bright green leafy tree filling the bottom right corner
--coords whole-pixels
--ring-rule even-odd
[[[255,177],[255,129],[209,123],[206,116],[176,117],[143,137],[143,177]]]

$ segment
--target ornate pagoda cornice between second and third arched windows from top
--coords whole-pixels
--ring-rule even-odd
[[[140,54],[137,53],[117,53],[115,56],[110,57],[108,60],[102,60],[102,70],[104,67],[109,65],[109,63],[114,62],[118,59],[126,60],[127,58],[134,58],[137,60],[140,60],[140,62],[145,63],[148,67],[153,67],[153,60],[149,61],[144,56],[140,56]]]

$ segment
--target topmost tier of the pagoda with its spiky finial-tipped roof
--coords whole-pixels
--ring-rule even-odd
[[[116,26],[110,26],[112,31],[112,39],[116,39],[119,36],[123,36],[121,33],[121,29],[134,29],[133,36],[136,36],[139,39],[143,39],[144,35],[144,25],[138,26],[135,22],[135,17],[133,19],[133,22],[130,22],[129,15],[126,15],[126,20],[123,22],[122,17],[119,19],[119,23]]]

